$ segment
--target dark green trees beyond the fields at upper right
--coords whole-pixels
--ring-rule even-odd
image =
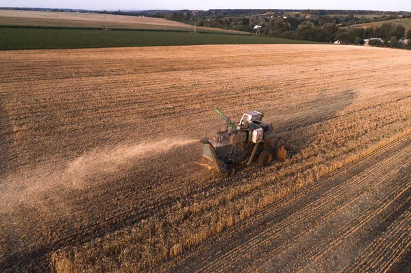
[[[411,30],[406,33],[403,25],[383,23],[380,27],[342,27],[343,21],[353,20],[353,16],[295,16],[271,15],[224,17],[220,14],[214,18],[198,18],[190,12],[173,12],[169,19],[183,23],[196,23],[201,27],[216,27],[221,29],[234,29],[239,31],[253,31],[255,25],[260,25],[260,35],[274,36],[293,40],[308,40],[314,42],[335,42],[342,44],[364,44],[365,39],[381,38],[370,41],[370,45],[389,46],[394,48],[410,49],[411,44],[404,44],[403,39],[411,39]]]

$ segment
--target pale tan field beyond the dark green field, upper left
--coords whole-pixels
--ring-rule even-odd
[[[107,22],[107,25],[106,25]],[[154,29],[194,31],[194,26],[166,20],[114,14],[76,13],[76,12],[40,12],[27,10],[0,10],[0,25],[40,26],[40,27],[92,27],[109,29]],[[197,27],[199,32],[246,34],[243,31]]]

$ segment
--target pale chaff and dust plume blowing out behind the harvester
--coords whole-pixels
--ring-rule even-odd
[[[0,214],[17,205],[42,207],[43,199],[58,199],[61,190],[76,190],[92,186],[107,174],[130,167],[139,160],[171,151],[198,140],[166,139],[158,142],[119,145],[88,151],[65,164],[44,164],[33,170],[23,170],[0,181]]]

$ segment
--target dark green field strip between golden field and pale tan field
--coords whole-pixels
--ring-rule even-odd
[[[205,34],[175,31],[0,28],[0,49],[83,49],[197,44],[307,44],[266,36]]]

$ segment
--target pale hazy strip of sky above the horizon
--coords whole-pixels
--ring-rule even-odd
[[[313,9],[401,10],[411,12],[411,0],[0,0],[0,7],[72,8],[83,10]]]

